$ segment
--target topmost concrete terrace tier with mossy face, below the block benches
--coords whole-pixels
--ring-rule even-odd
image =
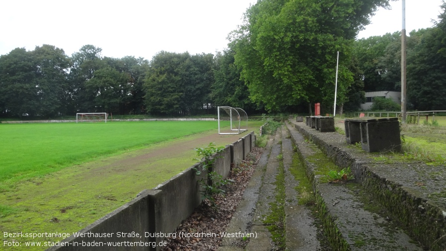
[[[403,154],[366,153],[338,133],[319,133],[290,121],[336,165],[351,167],[373,199],[385,205],[417,242],[446,250],[446,166],[427,165]]]

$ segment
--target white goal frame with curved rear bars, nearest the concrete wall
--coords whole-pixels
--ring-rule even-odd
[[[220,111],[224,111],[225,114],[229,115],[228,119],[230,123],[230,129],[228,132],[223,132],[223,128],[220,126],[220,121],[224,120]],[[240,134],[248,130],[248,115],[242,108],[233,108],[230,106],[218,106],[218,123],[219,123],[219,134]]]

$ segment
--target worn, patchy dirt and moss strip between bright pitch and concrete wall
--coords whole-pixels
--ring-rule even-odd
[[[194,148],[206,147],[211,142],[225,146],[248,132],[218,135],[213,131],[188,136],[19,182],[11,191],[0,193],[1,205],[12,208],[12,213],[0,218],[0,229],[76,232],[132,200],[142,190],[192,166],[197,162],[193,160],[197,157]]]

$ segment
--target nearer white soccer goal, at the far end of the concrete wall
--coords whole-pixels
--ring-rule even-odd
[[[239,134],[248,130],[248,114],[241,108],[218,106],[219,134]]]

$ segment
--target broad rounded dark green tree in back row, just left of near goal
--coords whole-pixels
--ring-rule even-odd
[[[188,115],[210,103],[214,56],[161,51],[150,62],[144,85],[147,110],[152,114]]]

